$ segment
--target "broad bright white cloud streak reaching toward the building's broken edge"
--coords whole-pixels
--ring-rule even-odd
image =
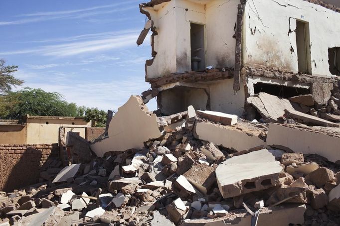
[[[136,45],[138,33],[126,32],[125,34],[112,35],[110,38],[78,41],[66,44],[40,46],[31,49],[0,52],[0,55],[35,54],[43,56],[65,57],[88,52],[106,51],[115,48]]]

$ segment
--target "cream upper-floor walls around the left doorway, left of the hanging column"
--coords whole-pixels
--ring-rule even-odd
[[[234,26],[239,0],[171,0],[144,8],[157,27],[154,63],[147,78],[191,71],[190,22],[205,24],[206,66],[233,67]]]

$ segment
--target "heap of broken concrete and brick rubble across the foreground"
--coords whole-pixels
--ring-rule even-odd
[[[144,108],[136,111],[147,113]],[[122,124],[118,117],[112,121]],[[339,154],[326,159],[280,144],[269,146],[268,124],[196,112],[191,106],[155,120],[161,136],[145,141],[142,148],[101,146],[102,157],[64,168],[51,162],[41,183],[1,192],[0,226],[339,225]],[[147,130],[134,134],[146,135]],[[103,140],[110,139],[110,131],[114,127]],[[329,133],[337,138],[337,132]],[[113,139],[106,142],[119,142]],[[321,151],[326,153],[324,145]]]

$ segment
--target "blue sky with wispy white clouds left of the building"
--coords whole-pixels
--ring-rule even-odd
[[[141,0],[0,0],[0,58],[18,65],[22,87],[58,92],[67,102],[117,110],[148,90],[150,36]],[[148,104],[156,110],[156,101]]]

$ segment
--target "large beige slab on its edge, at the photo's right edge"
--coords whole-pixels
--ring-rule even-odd
[[[336,162],[340,160],[340,128],[270,123],[267,145],[318,154]]]

